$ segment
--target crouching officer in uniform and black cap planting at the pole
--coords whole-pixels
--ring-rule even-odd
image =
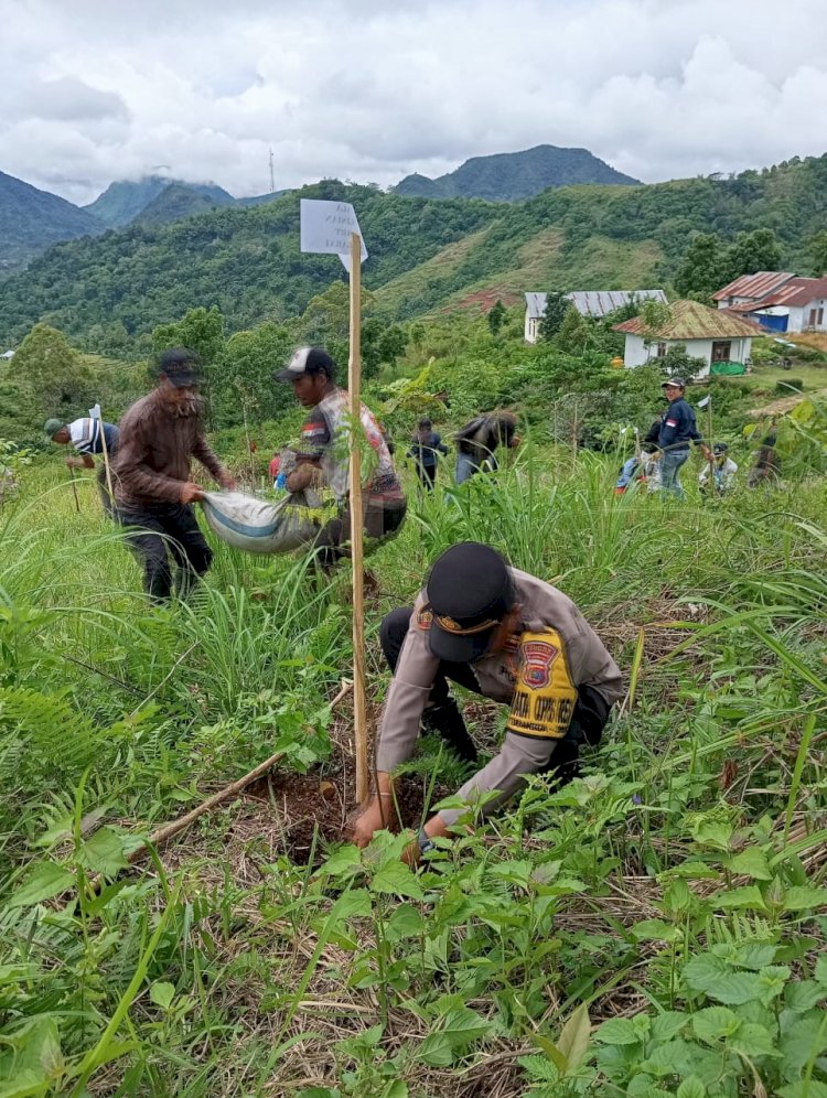
[[[408,760],[420,721],[460,757],[476,749],[450,695],[448,679],[511,706],[500,754],[460,789],[490,812],[527,774],[577,773],[580,743],[597,744],[611,707],[623,695],[621,674],[573,602],[549,583],[509,568],[488,546],[465,541],[436,561],[412,611],[382,623],[394,671],[379,729],[377,785],[354,828],[358,846],[386,826],[394,771]],[[420,850],[463,815],[442,809],[420,831]]]

